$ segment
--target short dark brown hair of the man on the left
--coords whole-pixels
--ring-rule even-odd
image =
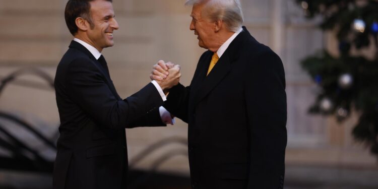
[[[67,2],[65,10],[65,19],[67,27],[72,35],[75,35],[78,32],[78,26],[75,23],[75,20],[78,17],[87,20],[91,25],[91,28],[94,27],[90,14],[91,4],[89,4],[89,2],[92,1],[94,0],[69,0]],[[104,1],[113,2],[112,0]]]

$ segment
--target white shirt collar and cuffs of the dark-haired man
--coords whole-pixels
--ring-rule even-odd
[[[89,52],[91,52],[91,54],[96,58],[100,58],[101,56],[101,52],[97,50],[97,48],[95,48],[94,46],[78,39],[78,38],[74,38],[74,41],[80,43],[81,45],[83,45],[86,49],[89,50]],[[151,82],[152,84],[154,84],[155,88],[158,90],[161,98],[163,99],[163,101],[166,101],[167,100],[167,97],[165,96],[163,90],[161,89],[160,85],[154,80]],[[163,107],[163,106],[160,106],[159,107],[159,113],[160,113],[160,117],[161,117],[161,120],[166,123],[166,124],[174,124],[175,120],[174,118],[171,117],[171,114]]]

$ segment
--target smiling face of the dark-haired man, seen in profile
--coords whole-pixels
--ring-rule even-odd
[[[114,19],[111,2],[95,0],[90,2],[90,17],[93,27],[87,30],[88,42],[100,52],[103,48],[114,45],[113,31],[119,28]]]

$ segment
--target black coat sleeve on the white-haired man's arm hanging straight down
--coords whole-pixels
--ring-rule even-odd
[[[248,188],[283,188],[287,110],[282,61],[267,50],[246,67],[244,86],[250,131]]]

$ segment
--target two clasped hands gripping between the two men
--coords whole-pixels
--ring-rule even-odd
[[[151,80],[156,80],[165,94],[169,92],[170,88],[178,84],[180,77],[180,66],[171,62],[165,63],[163,60],[154,65],[150,75]]]

